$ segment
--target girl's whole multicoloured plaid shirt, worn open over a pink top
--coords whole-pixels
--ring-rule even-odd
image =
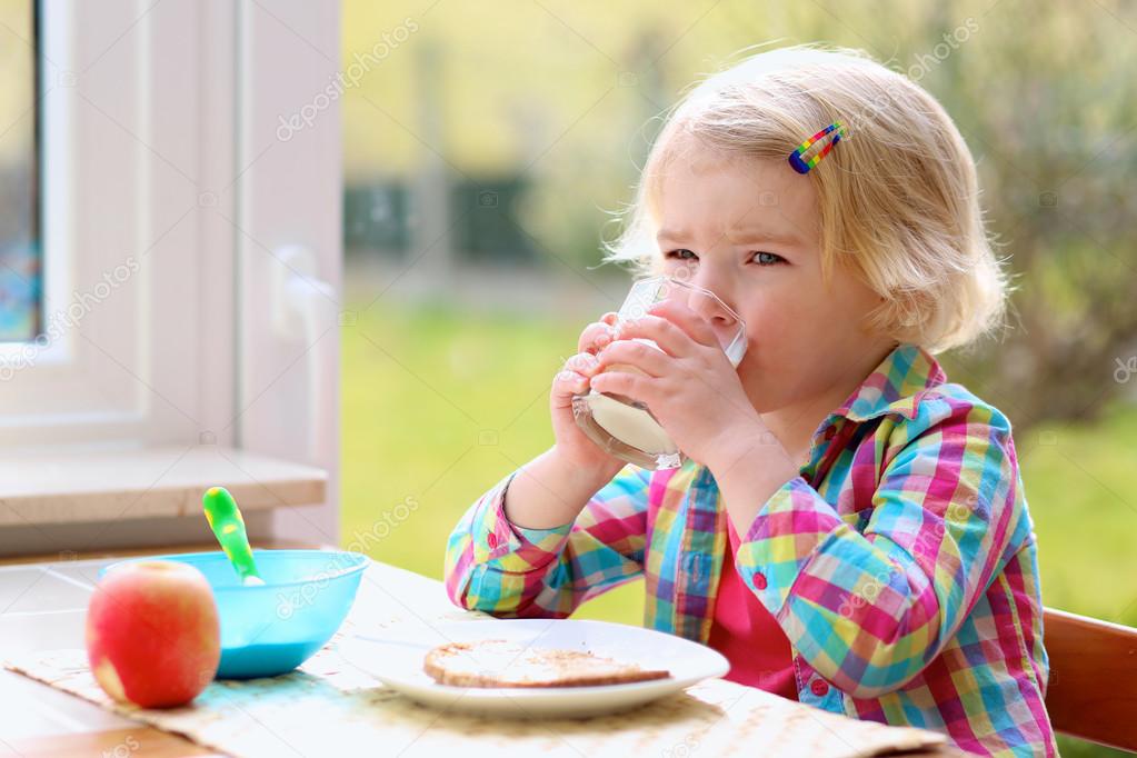
[[[512,476],[450,535],[455,603],[563,618],[642,575],[645,625],[707,642],[728,544],[709,469],[629,465],[549,530],[505,518]],[[927,351],[896,348],[816,430],[735,556],[789,638],[798,698],[978,753],[1055,755],[1022,490],[1006,417]]]

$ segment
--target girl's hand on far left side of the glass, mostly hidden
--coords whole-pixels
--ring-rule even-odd
[[[598,370],[596,353],[612,341],[615,323],[616,314],[607,313],[599,322],[584,327],[578,340],[578,353],[565,361],[564,368],[553,380],[549,393],[553,434],[556,436],[555,455],[581,475],[595,476],[601,482],[612,480],[625,464],[597,447],[576,426],[572,397],[588,392],[589,380]]]

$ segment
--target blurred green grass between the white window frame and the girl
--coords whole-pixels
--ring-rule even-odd
[[[441,578],[466,508],[553,444],[548,388],[587,320],[375,306],[343,327],[343,543]],[[634,624],[642,608],[634,582],[576,617]]]

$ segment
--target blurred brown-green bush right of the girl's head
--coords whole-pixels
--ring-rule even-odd
[[[1056,3],[1024,25],[976,18],[980,49],[965,43],[923,83],[976,153],[1016,290],[1009,331],[949,363],[1020,427],[1093,417],[1126,391],[1115,370],[1137,351],[1137,81],[1127,73],[1137,8]]]

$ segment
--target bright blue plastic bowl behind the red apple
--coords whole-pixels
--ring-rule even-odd
[[[355,602],[367,557],[332,550],[254,550],[264,585],[242,585],[229,558],[216,552],[130,558],[176,560],[193,566],[214,591],[221,615],[217,678],[276,676],[319,650],[343,623]]]

